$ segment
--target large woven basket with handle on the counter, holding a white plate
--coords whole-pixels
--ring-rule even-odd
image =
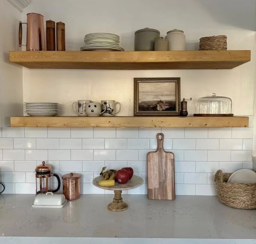
[[[227,183],[232,173],[215,174],[219,201],[232,208],[256,209],[256,183]]]

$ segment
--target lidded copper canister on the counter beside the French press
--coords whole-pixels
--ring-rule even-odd
[[[81,175],[76,173],[64,174],[63,194],[67,200],[77,200],[81,192]]]

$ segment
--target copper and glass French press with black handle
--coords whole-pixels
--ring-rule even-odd
[[[58,181],[58,186],[55,190],[51,189],[51,177],[55,176]],[[52,166],[45,164],[38,165],[36,168],[36,194],[46,194],[47,192],[57,192],[60,189],[61,180],[57,174],[52,173]]]

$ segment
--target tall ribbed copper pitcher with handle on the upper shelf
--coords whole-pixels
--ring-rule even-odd
[[[26,45],[22,45],[22,24],[27,25]],[[46,50],[44,16],[36,13],[27,14],[27,23],[20,21],[19,47],[26,46],[27,51]]]

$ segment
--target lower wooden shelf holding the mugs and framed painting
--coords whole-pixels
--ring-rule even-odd
[[[248,127],[248,117],[11,117],[11,127]]]

